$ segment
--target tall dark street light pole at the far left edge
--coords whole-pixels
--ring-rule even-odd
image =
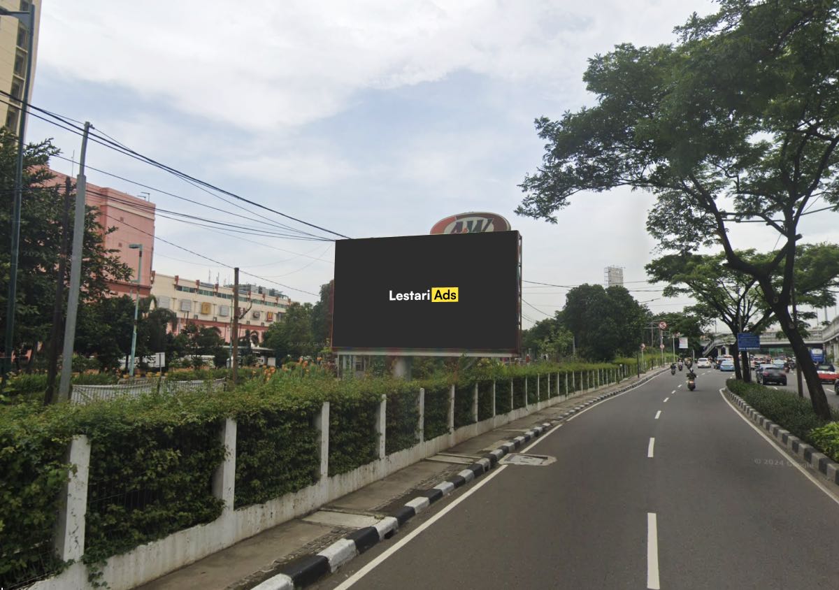
[[[32,52],[35,37],[35,5],[29,5],[29,12],[0,8],[0,16],[13,16],[29,28],[26,54],[26,80],[23,81],[23,97],[20,104],[20,125],[18,130],[18,162],[14,176],[14,201],[12,206],[12,256],[8,275],[8,300],[6,304],[6,338],[3,347],[3,363],[0,373],[5,375],[12,368],[12,347],[14,342],[14,313],[18,298],[18,258],[20,254],[20,210],[23,203],[23,148],[26,136],[26,109],[29,106],[29,86],[32,78]]]

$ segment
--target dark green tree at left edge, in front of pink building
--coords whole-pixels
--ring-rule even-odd
[[[0,129],[0,227],[3,228],[11,225],[17,151],[17,138],[7,129]],[[50,157],[56,154],[59,154],[59,150],[50,140],[29,144],[24,152],[17,311],[13,337],[13,346],[23,351],[36,351],[39,342],[45,342],[50,337],[53,323],[64,201],[64,187],[53,185],[53,175],[47,168]],[[70,215],[71,225],[72,219]],[[131,267],[120,261],[116,251],[105,248],[104,236],[110,231],[96,221],[96,210],[87,207],[80,309],[101,302],[107,296],[109,279],[129,280],[133,276]],[[8,232],[3,232],[3,235],[8,235]],[[0,332],[3,333],[6,330],[10,265],[8,248],[0,248],[0,314],[3,314],[0,316]],[[66,265],[65,276],[60,279],[69,287],[70,264]]]

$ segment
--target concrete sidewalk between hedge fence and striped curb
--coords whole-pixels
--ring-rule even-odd
[[[657,372],[653,370],[642,373],[641,379]],[[270,577],[280,564],[298,556],[316,553],[347,533],[373,525],[419,491],[446,481],[488,450],[527,431],[529,426],[550,420],[581,402],[596,398],[604,392],[623,389],[637,381],[637,377],[632,377],[624,379],[621,384],[573,394],[567,399],[560,398],[549,408],[463,441],[434,457],[414,463],[387,478],[336,499],[314,513],[265,530],[138,588],[245,590],[253,587]]]

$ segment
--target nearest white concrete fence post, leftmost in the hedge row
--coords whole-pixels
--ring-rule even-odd
[[[85,553],[85,514],[87,512],[87,478],[91,467],[91,442],[87,436],[73,436],[67,449],[70,470],[64,484],[64,504],[55,523],[55,551],[63,561],[80,560]]]

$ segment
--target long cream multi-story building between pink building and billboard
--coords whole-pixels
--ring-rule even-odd
[[[213,326],[221,337],[230,342],[232,334],[233,287],[205,283],[201,280],[181,279],[175,274],[152,273],[152,295],[157,305],[175,311],[178,325],[175,333],[190,323]],[[257,285],[239,285],[239,337],[246,331],[257,332],[260,342],[263,332],[280,321],[291,300],[280,291]]]

